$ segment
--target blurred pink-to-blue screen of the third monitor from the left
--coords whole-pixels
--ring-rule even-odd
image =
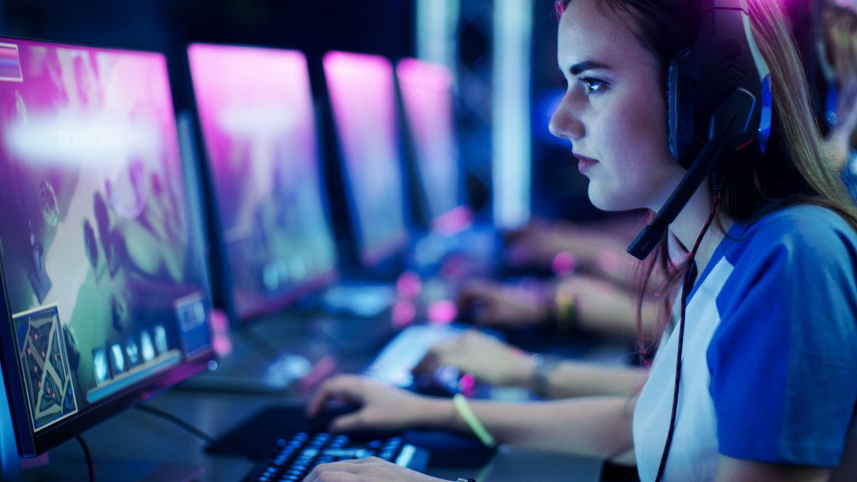
[[[361,262],[375,265],[407,243],[393,64],[327,52],[323,60]]]

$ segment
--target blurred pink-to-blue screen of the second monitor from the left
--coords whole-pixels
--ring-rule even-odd
[[[307,61],[207,44],[188,57],[229,270],[219,275],[231,278],[233,315],[247,319],[334,274]]]

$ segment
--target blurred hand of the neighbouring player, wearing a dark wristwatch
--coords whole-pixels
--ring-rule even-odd
[[[442,366],[454,366],[481,382],[507,386],[526,385],[533,371],[530,355],[476,330],[432,346],[414,373],[431,374]]]

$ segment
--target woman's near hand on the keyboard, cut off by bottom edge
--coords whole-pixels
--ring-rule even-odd
[[[303,480],[305,482],[333,482],[338,480],[437,482],[443,479],[435,479],[424,473],[414,472],[409,468],[383,461],[378,457],[369,457],[367,459],[321,464],[315,467]]]

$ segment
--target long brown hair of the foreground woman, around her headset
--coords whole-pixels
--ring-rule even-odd
[[[571,1],[556,3],[558,15],[562,15]],[[664,85],[669,63],[696,39],[698,1],[587,1],[596,1],[602,11],[627,12],[637,21],[635,35],[662,64]],[[753,39],[770,69],[774,105],[771,137],[763,159],[751,172],[727,175],[723,179],[718,221],[722,220],[721,216],[728,216],[741,223],[752,223],[787,206],[816,204],[834,210],[857,231],[857,211],[838,173],[824,161],[821,136],[812,118],[809,87],[786,16],[777,2],[747,0],[747,4]],[[722,229],[722,224],[720,227]],[[668,321],[674,303],[685,266],[670,261],[666,238],[667,234],[656,255],[649,256],[640,268],[638,326],[644,293],[656,269],[663,274],[662,286],[657,286],[656,290],[664,293],[662,322]]]

